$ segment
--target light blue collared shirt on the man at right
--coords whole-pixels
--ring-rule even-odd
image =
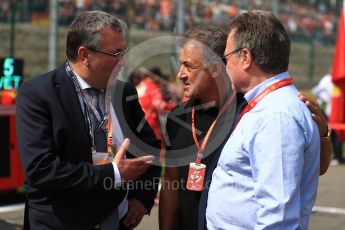
[[[250,102],[284,72],[256,86]],[[212,175],[208,229],[307,229],[320,166],[319,131],[293,85],[265,96],[229,137]]]

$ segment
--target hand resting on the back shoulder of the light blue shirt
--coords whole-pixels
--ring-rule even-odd
[[[303,101],[308,109],[311,112],[311,115],[314,119],[314,121],[317,124],[317,127],[319,128],[320,137],[327,136],[328,132],[328,124],[325,116],[323,115],[320,106],[318,103],[310,100],[307,96],[305,96],[303,93],[299,92],[298,97]]]

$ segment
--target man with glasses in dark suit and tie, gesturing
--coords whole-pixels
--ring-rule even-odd
[[[137,99],[127,100],[136,96],[135,88],[127,83],[116,81],[111,94],[116,97],[113,139],[131,140],[127,157],[122,158],[128,148],[124,141],[116,145],[119,151],[113,162],[92,164],[93,151],[106,152],[108,130],[105,125],[96,130],[94,124],[107,120],[104,94],[111,74],[124,65],[125,27],[104,12],[80,14],[68,31],[65,65],[20,89],[17,135],[26,175],[25,228],[93,229],[120,203],[122,225],[134,228],[152,208],[158,187],[153,180],[160,168],[152,165],[153,156],[144,155],[159,154],[160,143],[146,122],[137,130],[144,113]],[[103,103],[92,106],[87,99],[92,97],[93,103],[91,92],[95,91]],[[96,114],[105,119],[96,119]],[[127,194],[120,182],[133,180],[153,184],[146,189],[134,187]]]

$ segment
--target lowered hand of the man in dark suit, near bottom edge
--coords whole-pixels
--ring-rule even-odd
[[[133,229],[140,224],[144,215],[147,213],[145,206],[135,198],[128,200],[128,212],[123,218],[122,223],[126,228]]]

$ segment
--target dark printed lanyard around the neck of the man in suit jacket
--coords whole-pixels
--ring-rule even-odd
[[[100,116],[99,112],[97,111],[95,106],[92,104],[91,99],[88,96],[86,96],[85,93],[83,92],[83,90],[81,89],[79,82],[78,82],[78,79],[77,79],[75,73],[73,72],[73,68],[70,65],[69,61],[66,61],[65,70],[66,70],[67,75],[71,78],[71,80],[74,84],[74,87],[75,87],[75,90],[78,94],[78,97],[81,98],[84,102],[86,123],[88,125],[92,147],[94,148],[95,147],[94,134],[96,132],[100,131],[102,129],[102,127],[105,127],[105,124],[108,121],[109,112],[105,111],[104,116],[103,117]],[[105,100],[105,103],[107,103],[107,100]],[[90,120],[90,111],[92,111],[92,113],[95,115],[97,121],[99,122],[99,124],[95,130],[93,130],[92,122]]]

